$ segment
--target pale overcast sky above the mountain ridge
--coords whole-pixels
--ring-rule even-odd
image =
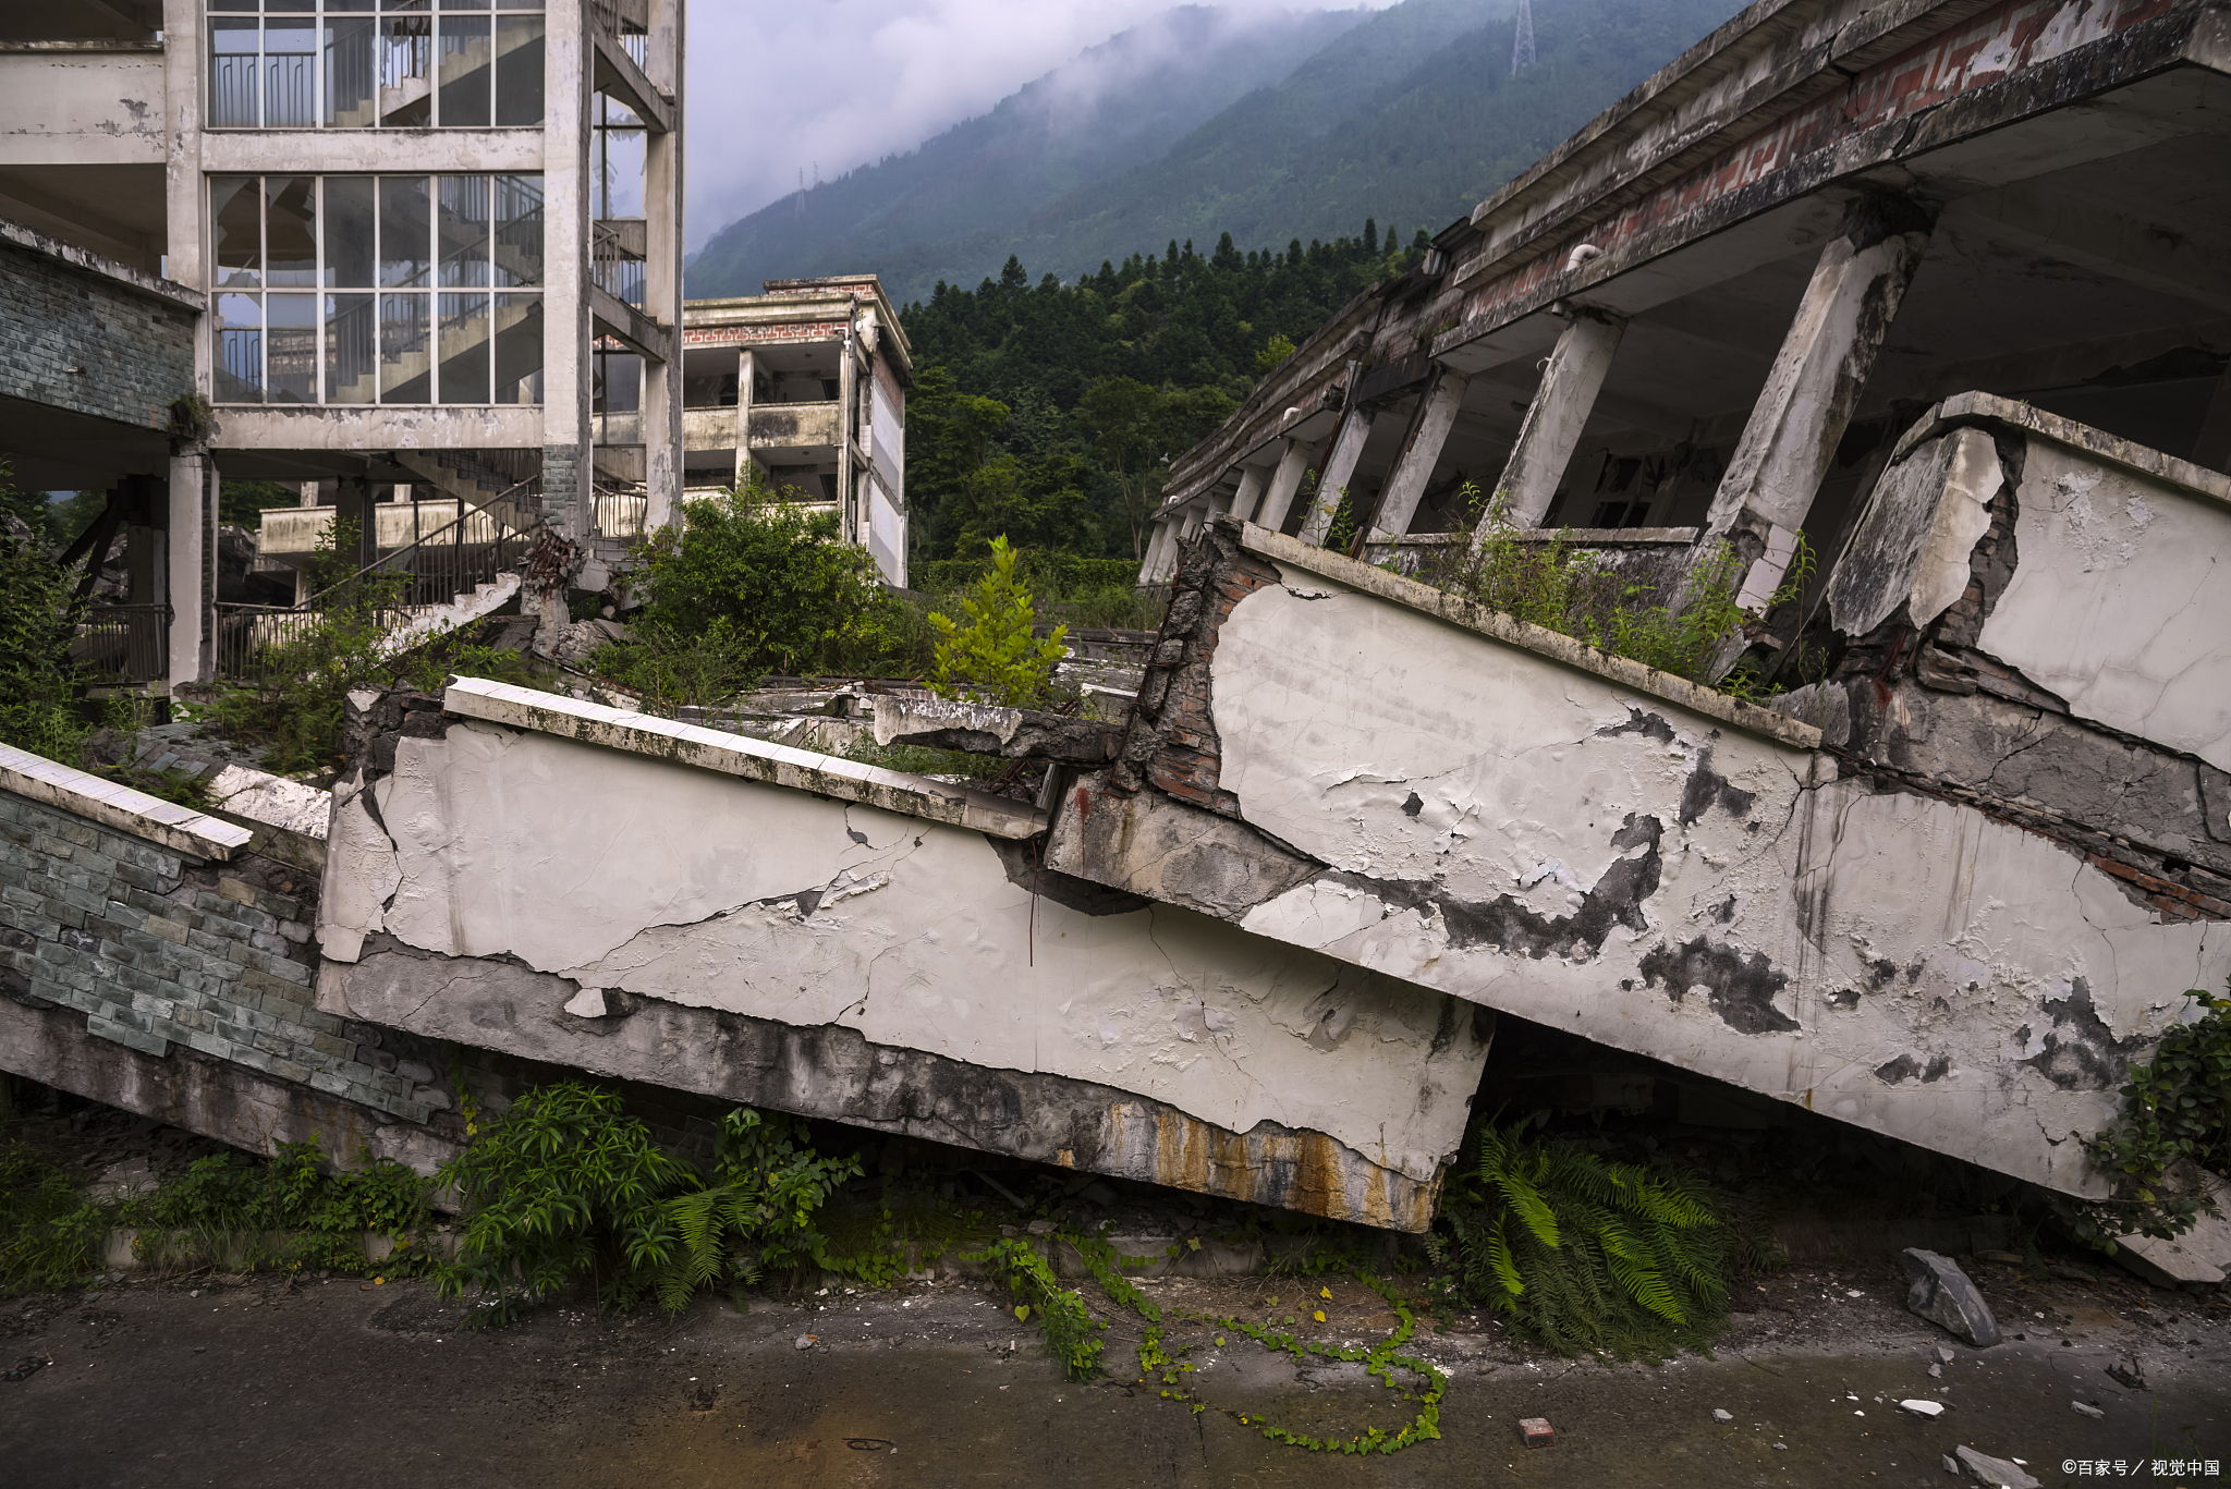
[[[1392,0],[1225,0],[1383,9]],[[1171,0],[698,0],[689,7],[687,239],[912,150]]]

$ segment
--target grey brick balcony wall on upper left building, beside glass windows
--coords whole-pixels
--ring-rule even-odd
[[[0,243],[0,395],[161,429],[194,391],[194,313]],[[65,368],[83,368],[69,373]]]

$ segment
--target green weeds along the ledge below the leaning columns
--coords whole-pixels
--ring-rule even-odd
[[[1749,670],[1709,676],[1729,638],[1798,598],[1814,571],[1814,551],[1798,534],[1796,554],[1765,612],[1736,603],[1742,558],[1725,542],[1704,554],[1673,594],[1617,571],[1593,549],[1559,531],[1548,542],[1522,536],[1499,500],[1466,484],[1466,522],[1441,554],[1419,569],[1437,589],[1461,594],[1515,621],[1573,636],[1613,656],[1751,699],[1762,692]]]

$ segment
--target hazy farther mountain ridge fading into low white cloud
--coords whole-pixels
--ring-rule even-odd
[[[1368,11],[1238,13],[1200,4],[1162,11],[910,154],[730,223],[689,261],[687,292],[759,295],[763,279],[883,270],[928,243],[1011,230],[1093,183],[1160,158],[1365,18]],[[926,295],[935,277],[933,270],[919,286],[908,279],[892,290]]]

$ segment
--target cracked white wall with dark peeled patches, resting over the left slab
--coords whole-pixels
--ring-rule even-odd
[[[1133,759],[1142,708],[1131,775],[1060,801],[1064,873],[2068,1192],[2099,1192],[2073,1139],[2122,1063],[2231,971],[2224,924],[2164,922],[1972,804],[1841,779],[1720,694],[1261,529],[1211,529],[1187,569],[1227,603],[1158,656],[1167,692],[1205,659],[1209,726]]]

